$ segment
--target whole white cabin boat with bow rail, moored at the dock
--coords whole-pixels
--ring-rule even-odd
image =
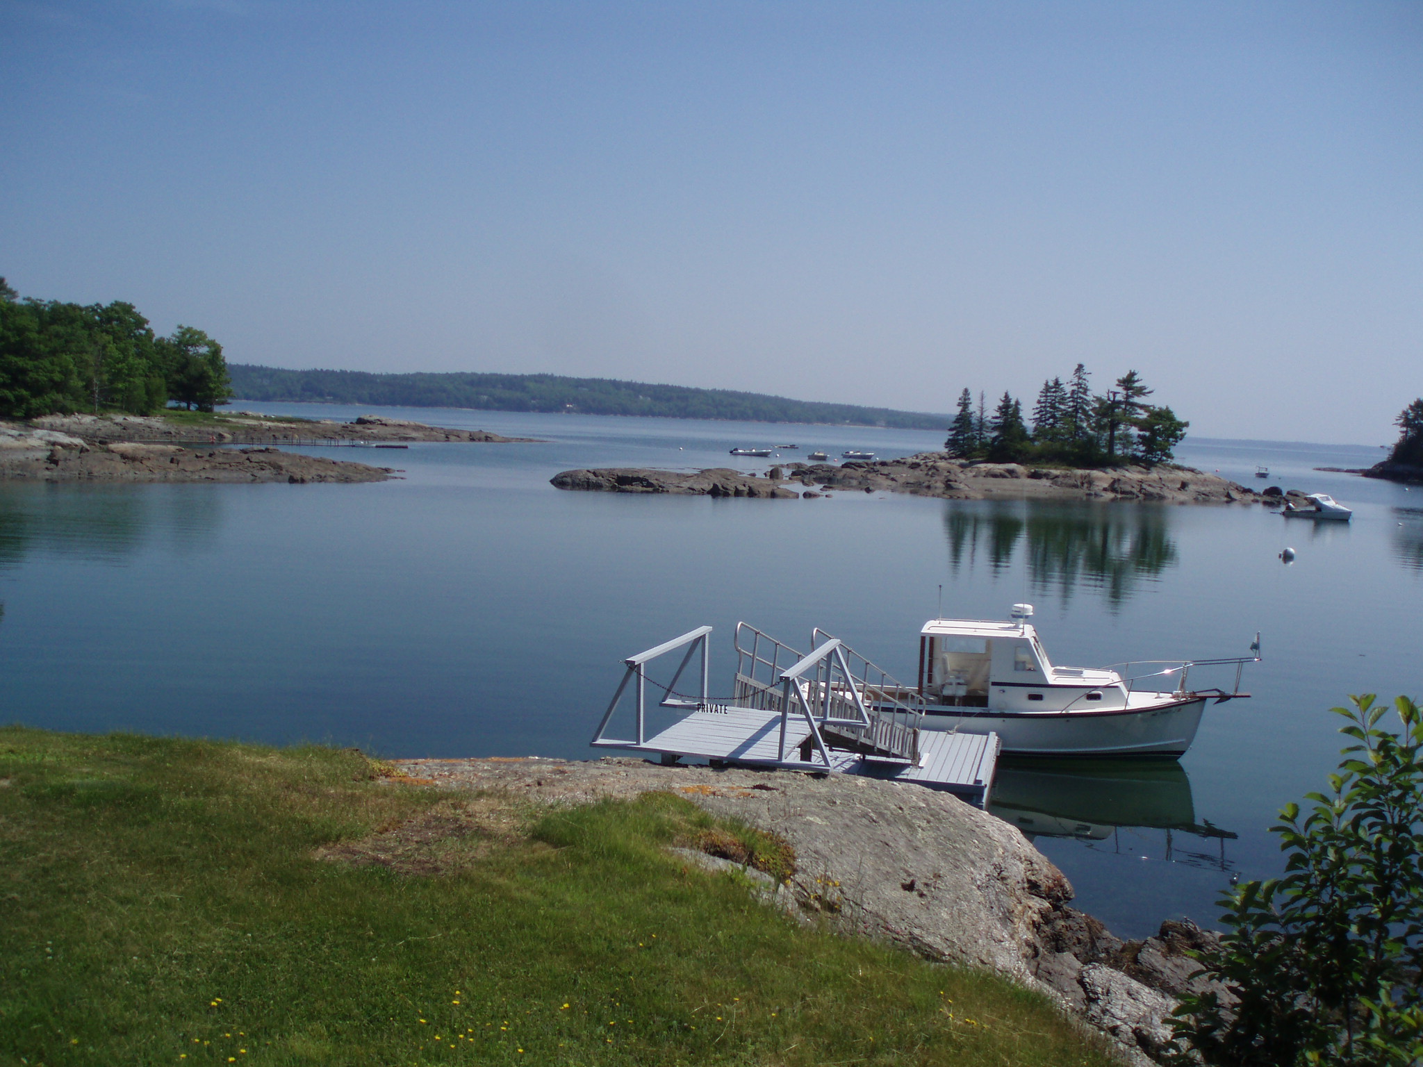
[[[924,625],[922,728],[996,733],[1005,753],[1020,755],[1174,758],[1195,740],[1208,700],[1249,696],[1239,691],[1239,676],[1245,663],[1259,660],[1259,635],[1247,657],[1060,667],[1027,622],[1032,613],[1032,605],[1013,605],[1009,622]],[[1187,687],[1192,667],[1217,664],[1235,666],[1232,690]]]

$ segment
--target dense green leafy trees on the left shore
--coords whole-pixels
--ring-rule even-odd
[[[202,330],[159,337],[122,300],[21,300],[0,277],[0,415],[148,415],[171,401],[212,411],[231,397],[222,346]]]

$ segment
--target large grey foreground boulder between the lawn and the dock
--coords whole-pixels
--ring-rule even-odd
[[[535,804],[666,791],[778,834],[795,849],[797,874],[785,889],[803,913],[1047,992],[1137,1063],[1160,1054],[1175,997],[1198,982],[1187,953],[1218,936],[1167,922],[1147,940],[1114,938],[1069,906],[1066,876],[1015,827],[919,785],[642,760],[394,765],[404,781],[502,791]]]

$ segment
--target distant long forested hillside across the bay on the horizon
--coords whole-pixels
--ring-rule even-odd
[[[243,363],[228,364],[228,373],[233,396],[243,400],[830,423],[896,430],[943,430],[949,424],[949,415],[919,411],[822,404],[724,388],[565,378],[558,374],[367,374],[357,370],[282,370]]]

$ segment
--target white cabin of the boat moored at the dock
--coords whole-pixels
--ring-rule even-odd
[[[928,704],[1049,710],[1069,689],[1074,706],[1096,704],[1104,697],[1116,704],[1124,696],[1117,689],[1120,683],[1121,677],[1111,670],[1054,667],[1037,630],[1022,617],[932,619],[919,632],[919,694]],[[1100,687],[1107,691],[1097,691]],[[1049,694],[1049,690],[1056,691]]]

